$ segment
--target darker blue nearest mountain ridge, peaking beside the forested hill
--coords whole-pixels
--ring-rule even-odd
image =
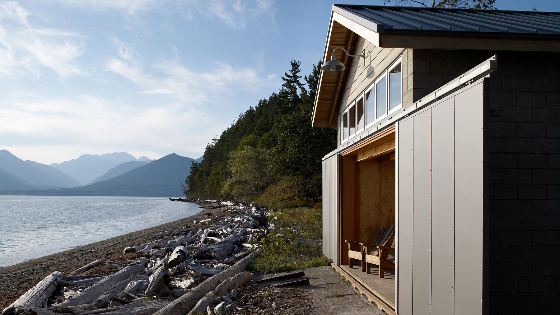
[[[122,175],[91,185],[50,190],[2,190],[3,195],[55,196],[151,196],[183,195],[181,182],[190,173],[192,158],[175,153],[134,168]]]

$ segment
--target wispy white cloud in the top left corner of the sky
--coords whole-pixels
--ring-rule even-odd
[[[34,27],[30,12],[17,2],[0,2],[0,73],[16,76],[30,73],[40,76],[39,66],[55,70],[60,77],[87,74],[76,59],[86,48],[82,35],[50,28]]]

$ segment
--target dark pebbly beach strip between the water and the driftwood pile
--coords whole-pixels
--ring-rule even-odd
[[[188,202],[200,206],[220,205],[219,201],[213,203],[209,201],[210,200],[192,200]],[[170,202],[185,201],[170,200]],[[128,264],[136,258],[136,255],[124,254],[124,247],[153,241],[155,234],[169,229],[177,229],[185,226],[191,227],[194,219],[207,219],[208,215],[206,213],[213,214],[217,211],[221,211],[222,208],[223,207],[216,209],[201,208],[198,213],[183,219],[111,237],[51,255],[33,258],[18,264],[0,267],[0,309],[4,309],[10,305],[14,300],[19,298],[21,294],[25,293],[53,271],[60,271],[63,272],[63,274],[68,274],[96,259]],[[105,269],[109,272],[109,269]],[[102,271],[97,270],[96,272],[99,273]]]

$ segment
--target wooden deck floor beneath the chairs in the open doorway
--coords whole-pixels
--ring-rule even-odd
[[[334,265],[334,264],[333,264]],[[377,308],[388,314],[396,314],[395,309],[395,273],[385,269],[385,278],[379,278],[379,267],[372,266],[371,274],[362,272],[360,265],[353,268],[348,265],[334,266],[354,288],[360,290]]]

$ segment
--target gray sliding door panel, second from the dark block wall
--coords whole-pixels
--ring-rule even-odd
[[[432,107],[432,313],[454,312],[454,97]]]

